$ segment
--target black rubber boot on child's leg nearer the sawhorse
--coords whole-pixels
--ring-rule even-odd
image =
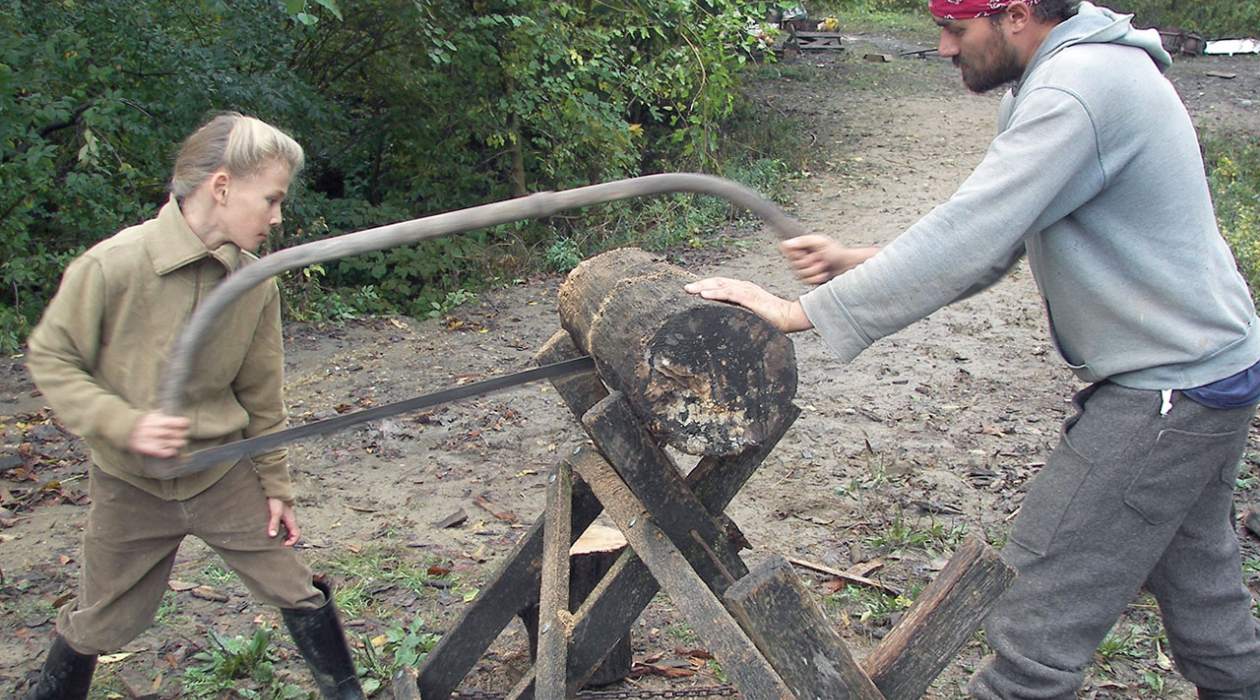
[[[328,700],[363,700],[350,647],[333,604],[333,588],[321,580],[315,582],[315,588],[324,592],[325,603],[310,611],[281,608],[285,627],[315,676],[320,695]]]

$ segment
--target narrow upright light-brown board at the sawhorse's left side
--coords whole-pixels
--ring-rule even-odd
[[[568,548],[573,470],[556,465],[548,476],[547,512],[543,526],[543,572],[538,594],[538,692],[542,697],[564,696],[564,670],[572,624],[568,612]]]

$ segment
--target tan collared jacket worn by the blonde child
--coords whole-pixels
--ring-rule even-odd
[[[171,199],[156,218],[97,243],[66,268],[30,334],[26,365],[62,423],[87,441],[106,473],[160,499],[185,500],[232,467],[149,478],[127,438],[136,421],[156,409],[161,370],[193,310],[228,272],[253,259],[231,243],[207,249]],[[239,298],[210,337],[186,387],[188,449],[284,428],[276,282]],[[253,461],[267,496],[291,502],[287,451]]]

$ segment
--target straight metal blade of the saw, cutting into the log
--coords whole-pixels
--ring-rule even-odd
[[[490,379],[483,379],[481,381],[474,381],[461,387],[450,387],[440,392],[422,394],[420,397],[413,397],[386,405],[355,410],[354,413],[346,413],[345,415],[334,415],[333,418],[304,423],[301,426],[286,428],[275,433],[267,433],[265,436],[256,436],[237,442],[229,442],[227,444],[219,444],[217,447],[198,449],[197,452],[179,460],[171,470],[171,475],[180,476],[184,473],[199,472],[213,465],[222,465],[224,462],[241,460],[242,457],[248,457],[249,454],[275,449],[281,444],[289,444],[290,442],[306,437],[335,433],[352,426],[358,426],[359,423],[379,421],[391,415],[398,415],[399,413],[420,410],[421,408],[457,402],[460,399],[494,394],[496,392],[503,392],[504,389],[510,389],[530,381],[557,379],[570,374],[591,371],[592,369],[595,369],[595,361],[591,360],[588,355],[582,355],[581,358],[552,363],[549,365],[524,371],[491,376]]]

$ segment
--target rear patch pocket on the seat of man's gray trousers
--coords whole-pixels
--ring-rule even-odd
[[[1213,477],[1232,483],[1237,466],[1228,457],[1240,437],[1245,438],[1245,432],[1159,431],[1124,492],[1124,502],[1152,525],[1181,516]]]

